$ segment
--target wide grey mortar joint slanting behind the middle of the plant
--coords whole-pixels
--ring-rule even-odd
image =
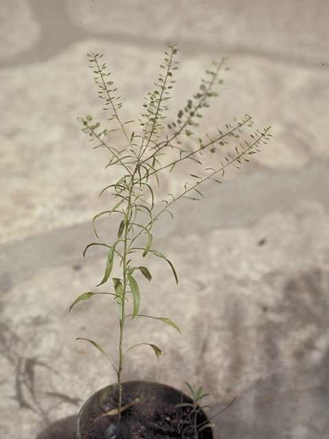
[[[217,187],[204,191],[208,206],[206,215],[199,209],[199,202],[181,203],[173,209],[173,222],[162,222],[156,234],[158,239],[166,239],[169,235],[182,235],[182,230],[188,234],[213,228],[247,228],[273,211],[295,211],[301,200],[319,202],[329,211],[327,169],[328,161],[315,161],[302,169],[263,171],[229,180],[221,186],[220,193]],[[322,185],[321,191],[315,182]],[[253,188],[257,189],[251,192]],[[236,199],[237,195],[241,196],[239,200]],[[276,204],[273,204],[273,200],[276,200]],[[202,222],[199,221],[200,215]],[[111,228],[114,225],[112,221],[99,219],[99,230]],[[0,245],[1,272],[17,283],[45,268],[79,263],[84,260],[84,247],[93,239],[90,219],[81,224],[55,228],[45,234],[7,242]],[[101,252],[94,250],[90,257],[98,257],[99,254]]]

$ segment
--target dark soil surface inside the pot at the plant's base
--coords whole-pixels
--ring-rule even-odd
[[[195,439],[193,421],[195,412],[191,407],[175,408],[174,403],[139,399],[127,410],[122,412],[118,424],[117,416],[102,416],[94,423],[93,420],[103,413],[116,407],[117,401],[106,401],[99,413],[90,413],[84,439]],[[133,401],[134,395],[125,395],[125,401]],[[197,423],[202,422],[198,415]],[[212,438],[210,429],[204,429],[198,439]]]

